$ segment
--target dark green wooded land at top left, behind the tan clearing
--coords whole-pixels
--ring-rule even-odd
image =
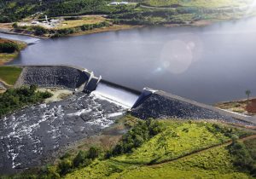
[[[108,6],[109,0],[0,0],[0,23],[21,20],[38,12],[49,16],[67,14],[118,14],[134,6]],[[42,15],[44,17],[44,15]]]

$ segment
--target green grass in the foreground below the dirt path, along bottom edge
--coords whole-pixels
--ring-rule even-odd
[[[96,161],[89,167],[76,170],[66,178],[250,178],[236,170],[225,147],[215,147],[174,162],[142,166],[113,160]]]

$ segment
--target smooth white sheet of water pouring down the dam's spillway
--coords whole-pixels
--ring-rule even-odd
[[[103,98],[118,103],[126,108],[131,108],[137,101],[138,95],[111,84],[99,83],[96,90],[92,92],[94,95],[100,95]]]

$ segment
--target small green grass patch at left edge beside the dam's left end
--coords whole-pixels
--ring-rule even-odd
[[[15,66],[0,66],[0,79],[5,83],[14,85],[17,79],[20,77],[22,69]]]

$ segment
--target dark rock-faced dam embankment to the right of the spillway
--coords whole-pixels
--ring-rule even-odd
[[[228,123],[256,125],[256,121],[236,113],[184,99],[164,91],[144,89],[131,109],[137,118],[218,119]]]

